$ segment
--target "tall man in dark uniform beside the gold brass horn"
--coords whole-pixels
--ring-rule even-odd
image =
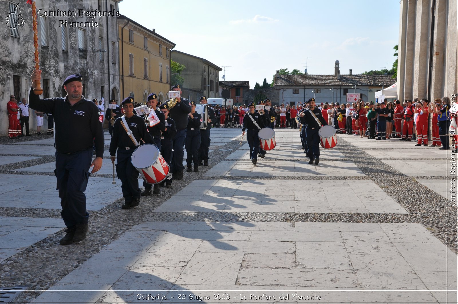
[[[172,91],[180,91],[180,85],[176,84],[172,87]],[[191,103],[189,99],[178,98],[177,103],[172,109],[169,109],[169,117],[175,121],[176,125],[176,136],[173,140],[173,162],[170,170],[173,173],[174,178],[181,180],[183,179],[183,158],[185,152],[183,147],[186,141],[186,126],[188,125],[188,115],[191,112]]]

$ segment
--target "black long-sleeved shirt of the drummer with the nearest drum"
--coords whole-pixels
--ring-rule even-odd
[[[121,124],[121,121],[121,117],[114,121],[113,136],[111,137],[109,150],[111,156],[115,155],[116,149],[118,148],[131,150],[132,152],[136,148],[134,142],[131,140],[131,137],[127,135],[127,132]],[[142,138],[145,143],[154,144],[153,138],[149,134],[145,125],[145,121],[142,119],[142,117],[134,114],[131,118],[125,117],[125,121],[127,122],[127,125],[129,125],[129,129],[131,129],[132,135],[135,137],[138,143],[141,143],[140,138]],[[126,147],[129,149],[126,149]]]

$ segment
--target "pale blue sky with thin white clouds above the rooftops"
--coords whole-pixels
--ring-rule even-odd
[[[120,13],[226,68],[227,81],[272,81],[280,68],[341,74],[391,68],[399,0],[123,0]],[[177,16],[177,17],[173,17]],[[310,57],[308,60],[307,57]],[[224,71],[223,71],[224,72]],[[220,73],[222,80],[223,72]]]

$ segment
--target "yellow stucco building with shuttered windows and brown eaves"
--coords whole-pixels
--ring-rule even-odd
[[[118,17],[118,29],[120,100],[131,96],[142,103],[156,93],[164,102],[170,91],[170,50],[175,44],[123,15]]]

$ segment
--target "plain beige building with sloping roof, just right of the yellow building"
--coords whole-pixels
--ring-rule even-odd
[[[218,87],[219,72],[223,71],[222,68],[204,58],[175,49],[171,51],[171,56],[172,60],[186,66],[181,72],[185,79],[181,88],[184,98],[194,101],[198,101],[201,96],[220,98]]]

